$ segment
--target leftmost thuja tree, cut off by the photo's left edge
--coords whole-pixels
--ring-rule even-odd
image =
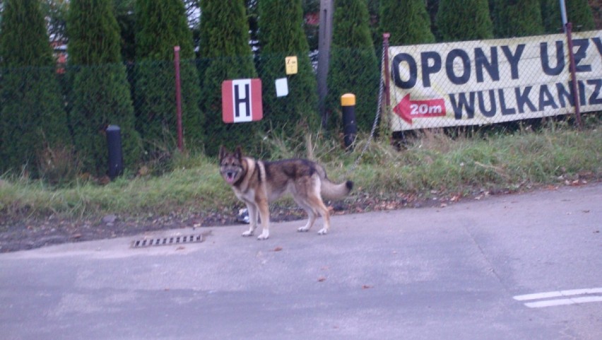
[[[40,1],[4,2],[0,171],[37,172],[42,149],[71,144]]]

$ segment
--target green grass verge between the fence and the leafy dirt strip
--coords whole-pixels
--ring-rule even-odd
[[[365,142],[345,152],[325,139],[305,141],[309,150],[271,151],[307,154],[324,163],[333,180],[350,177],[360,197],[470,196],[483,191],[519,191],[546,184],[596,181],[602,178],[602,124],[596,116],[583,131],[565,123],[514,133],[476,133],[451,138],[427,131],[401,150],[388,141],[370,144],[358,168],[350,172]],[[274,143],[286,148],[285,143]],[[305,153],[305,154],[300,154]],[[191,211],[223,211],[242,206],[218,174],[217,160],[182,156],[173,171],[160,177],[119,178],[106,185],[82,182],[51,187],[24,177],[0,177],[0,214],[89,218],[107,213],[138,216]],[[283,204],[290,204],[284,201]]]

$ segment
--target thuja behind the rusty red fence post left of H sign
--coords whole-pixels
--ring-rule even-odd
[[[136,0],[136,116],[146,148],[177,141],[174,47],[180,47],[182,127],[187,145],[203,139],[199,74],[182,0]]]

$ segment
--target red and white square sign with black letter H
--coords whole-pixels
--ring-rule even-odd
[[[223,81],[222,119],[225,123],[253,122],[263,117],[261,79]]]

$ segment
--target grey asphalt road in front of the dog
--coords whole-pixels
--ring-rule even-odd
[[[601,339],[602,184],[304,223],[0,254],[0,338]]]

